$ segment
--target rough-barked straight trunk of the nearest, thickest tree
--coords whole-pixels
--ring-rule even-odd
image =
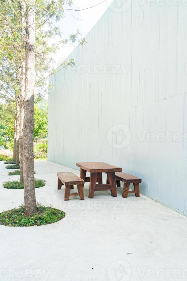
[[[27,41],[25,46],[25,103],[23,122],[23,178],[25,215],[36,212],[34,188],[34,85],[35,85],[35,2],[26,2]]]

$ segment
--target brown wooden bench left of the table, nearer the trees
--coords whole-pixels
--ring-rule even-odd
[[[77,196],[79,195],[80,199],[84,199],[84,192],[83,192],[83,187],[84,187],[84,180],[75,175],[72,172],[60,172],[57,173],[58,177],[58,189],[62,188],[62,185],[65,186],[65,192],[64,192],[64,200],[68,201],[69,196]],[[70,190],[73,189],[73,186],[76,185],[78,192],[76,193],[71,193]]]

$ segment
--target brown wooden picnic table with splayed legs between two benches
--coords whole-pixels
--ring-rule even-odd
[[[89,182],[89,198],[93,198],[95,190],[110,190],[113,197],[117,196],[115,172],[121,172],[122,168],[104,162],[76,163],[76,166],[80,167],[80,178]],[[90,177],[86,177],[86,172]],[[109,184],[103,184],[102,173],[107,174]]]

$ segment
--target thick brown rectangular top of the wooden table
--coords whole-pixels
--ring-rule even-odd
[[[76,166],[89,173],[121,172],[122,168],[104,162],[84,162],[76,163]]]

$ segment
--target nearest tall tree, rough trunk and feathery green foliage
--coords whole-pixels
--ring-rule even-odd
[[[74,43],[81,35],[77,31],[67,39],[49,44],[52,38],[56,40],[57,35],[61,36],[60,30],[54,25],[54,22],[63,17],[63,5],[71,5],[72,2],[72,0],[0,0],[2,4],[0,46],[6,50],[7,56],[3,54],[5,60],[8,61],[8,56],[11,56],[8,63],[20,80],[20,179],[24,181],[26,215],[32,215],[36,211],[33,163],[34,89],[38,90],[35,100],[39,101],[42,94],[47,91],[46,78],[59,71],[53,67],[52,54],[66,44]],[[48,25],[48,28],[44,28],[44,25]],[[85,39],[82,38],[79,42],[84,44]],[[18,65],[19,70],[15,68],[15,64]],[[74,65],[73,60],[63,61],[61,69],[68,65]],[[36,82],[35,77],[37,77]]]

